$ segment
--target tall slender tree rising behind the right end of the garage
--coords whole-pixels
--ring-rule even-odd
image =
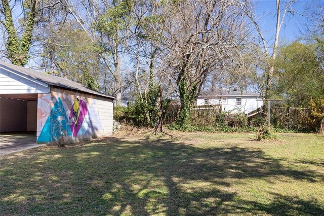
[[[85,31],[96,45],[101,61],[105,64],[104,92],[116,95],[120,105],[124,84],[122,68],[126,56],[126,31],[130,24],[131,1],[60,0],[69,13],[69,18]],[[110,77],[113,92],[108,92]]]

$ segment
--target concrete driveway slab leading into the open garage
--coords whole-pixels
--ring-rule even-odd
[[[43,145],[36,143],[36,133],[0,133],[0,156]]]

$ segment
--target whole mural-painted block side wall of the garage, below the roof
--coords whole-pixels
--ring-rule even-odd
[[[112,133],[112,99],[52,88],[50,94],[39,94],[38,101],[38,142],[56,141],[62,133],[71,141]]]

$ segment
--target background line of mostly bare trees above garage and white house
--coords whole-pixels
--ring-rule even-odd
[[[196,96],[239,86],[284,98],[323,118],[323,2],[277,1],[271,39],[258,1],[1,0],[1,58],[114,95],[133,94],[134,124],[156,127],[171,100],[175,123],[192,124]],[[308,5],[307,5],[308,4]],[[300,7],[299,7],[300,8]],[[282,24],[304,16],[300,39],[280,43]],[[285,24],[284,24],[285,25]]]

